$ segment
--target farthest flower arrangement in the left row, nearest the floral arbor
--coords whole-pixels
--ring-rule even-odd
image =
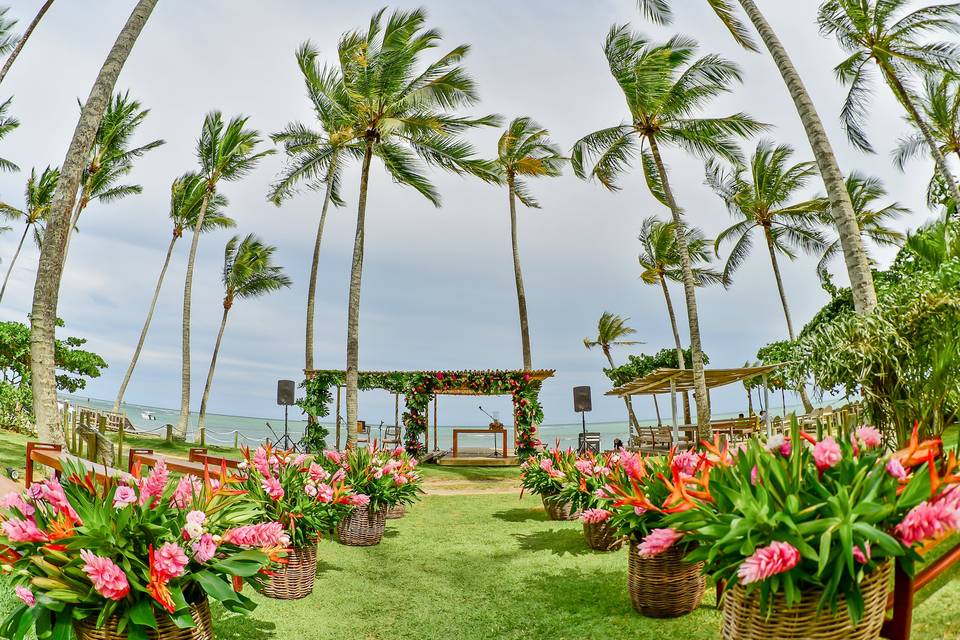
[[[376,511],[386,507],[413,504],[421,488],[417,460],[403,447],[392,451],[355,447],[345,452],[324,451],[317,465],[343,480],[350,506],[368,506]]]

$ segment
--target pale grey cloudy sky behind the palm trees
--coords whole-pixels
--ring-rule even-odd
[[[8,0],[9,2],[9,0]],[[40,0],[13,0],[11,12],[25,24]],[[769,134],[798,149],[809,149],[792,103],[773,64],[737,48],[702,2],[675,2],[676,23],[644,22],[633,0],[432,0],[392,7],[425,6],[430,26],[444,46],[469,43],[466,59],[482,102],[475,113],[529,115],[552,132],[564,148],[587,132],[626,117],[621,95],[602,53],[607,30],[630,22],[657,39],[675,32],[695,36],[703,51],[724,54],[743,67],[743,86],[717,100],[711,115],[747,111],[775,125]],[[0,156],[21,167],[0,175],[0,197],[20,204],[31,167],[62,162],[78,114],[95,74],[126,20],[132,0],[66,2],[53,5],[6,79],[2,94],[14,95],[21,127],[2,142]],[[117,88],[129,90],[151,109],[139,140],[163,138],[166,145],[137,162],[130,180],[143,194],[84,212],[64,274],[59,315],[66,331],[89,339],[110,367],[88,386],[90,396],[113,398],[129,362],[170,237],[167,218],[170,182],[197,166],[194,144],[206,112],[246,114],[265,134],[291,120],[310,122],[311,111],[294,63],[294,50],[312,40],[331,59],[338,36],[364,26],[381,2],[353,0],[161,0],[141,35]],[[871,108],[878,154],[866,156],[846,144],[837,114],[844,91],[831,69],[842,59],[833,41],[819,36],[817,3],[764,0],[760,3],[792,54],[832,134],[845,171],[859,169],[884,179],[892,198],[914,213],[902,220],[916,228],[931,217],[923,190],[931,167],[911,165],[905,176],[889,151],[906,131],[899,107],[885,89]],[[471,136],[479,153],[492,155],[499,133]],[[752,147],[755,142],[745,143]],[[303,366],[306,283],[321,197],[305,192],[276,208],[265,200],[267,185],[282,165],[280,155],[264,161],[248,178],[226,184],[234,232],[204,236],[194,280],[193,397],[199,404],[221,314],[219,281],[223,246],[232,233],[255,232],[278,247],[277,259],[294,281],[269,298],[241,301],[233,311],[210,400],[211,411],[274,415],[275,381],[299,379]],[[703,184],[699,160],[670,151],[680,204],[693,224],[715,235],[729,224],[718,198]],[[505,191],[434,173],[443,207],[434,208],[409,189],[394,185],[381,168],[372,174],[367,213],[360,365],[366,369],[512,368],[521,364],[516,296]],[[316,362],[341,368],[345,362],[346,298],[352,252],[358,172],[346,178],[349,205],[332,213],[320,262]],[[594,420],[622,418],[623,406],[600,393],[608,384],[602,355],[587,351],[584,336],[596,331],[604,310],[630,318],[637,337],[652,352],[672,346],[658,288],[637,276],[641,220],[668,212],[646,192],[639,172],[616,194],[563,177],[533,184],[542,210],[520,211],[520,251],[527,289],[533,361],[555,368],[543,391],[546,422],[569,422],[570,388],[594,389]],[[811,190],[812,193],[813,190]],[[0,236],[4,263],[19,234]],[[180,397],[180,314],[189,239],[179,243],[159,310],[127,400],[178,406]],[[704,348],[715,366],[738,366],[757,349],[785,337],[785,324],[769,258],[758,250],[734,286],[699,296]],[[889,251],[874,251],[887,263]],[[0,307],[0,319],[23,320],[29,310],[37,251],[28,247],[14,271]],[[794,320],[802,325],[826,296],[814,274],[815,259],[783,265]],[[837,281],[845,283],[839,260]],[[4,265],[5,269],[5,265]],[[678,308],[681,289],[674,289]],[[685,321],[682,321],[685,324]],[[685,333],[685,329],[683,329]],[[625,350],[615,354],[624,359]],[[742,388],[714,394],[719,411],[744,410]],[[361,398],[361,417],[392,419],[385,393]],[[444,401],[441,422],[477,423],[475,399]],[[509,415],[506,400],[484,401]],[[196,406],[193,407],[196,409]],[[640,405],[638,414],[651,415]]]

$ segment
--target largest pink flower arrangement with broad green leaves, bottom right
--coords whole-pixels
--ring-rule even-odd
[[[779,593],[793,607],[819,591],[818,611],[836,613],[842,595],[856,625],[865,576],[890,558],[912,570],[915,545],[960,527],[954,454],[944,459],[939,439],[919,442],[916,429],[901,451],[881,443],[873,427],[817,439],[794,421],[790,437],[725,455],[713,500],[668,522],[697,543],[690,560],[727,589],[759,590],[761,609]]]

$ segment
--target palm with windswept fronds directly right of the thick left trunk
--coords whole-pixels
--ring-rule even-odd
[[[71,231],[76,231],[80,214],[94,200],[114,202],[143,192],[143,187],[138,184],[118,183],[133,170],[133,161],[136,158],[164,144],[163,140],[153,140],[139,147],[130,147],[130,138],[149,114],[149,109],[141,108],[139,101],[130,98],[129,91],[117,93],[113,97],[97,128],[97,135],[83,170],[80,195],[70,222]],[[72,237],[73,233],[67,235],[64,260],[70,251]]]

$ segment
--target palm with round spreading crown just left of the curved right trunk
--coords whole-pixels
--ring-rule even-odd
[[[733,171],[724,172],[718,163],[709,163],[707,183],[723,199],[730,215],[737,220],[724,229],[714,243],[717,255],[722,244],[733,243],[723,269],[724,282],[729,285],[733,272],[743,265],[750,254],[753,232],[761,231],[780,293],[787,335],[790,340],[795,340],[777,256],[795,260],[797,249],[807,254],[824,249],[826,243],[817,227],[829,201],[826,198],[794,201],[797,192],[816,176],[817,168],[813,162],[789,166],[792,156],[793,148],[790,145],[774,146],[763,140],[757,144],[749,166],[737,164]]]

